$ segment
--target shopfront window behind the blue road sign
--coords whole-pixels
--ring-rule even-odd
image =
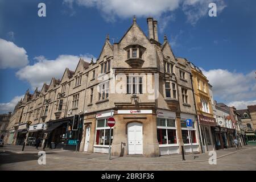
[[[187,129],[187,123],[186,120],[181,120],[181,134],[182,134],[182,139],[184,144],[189,144],[191,143],[191,137],[192,137],[192,142],[197,143],[196,141],[196,129],[195,129],[195,121],[193,122],[193,130],[189,132]]]

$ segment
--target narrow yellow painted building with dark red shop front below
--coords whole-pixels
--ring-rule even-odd
[[[203,75],[203,72],[198,67],[192,63],[190,65],[201,146],[202,150],[207,152],[214,149],[211,127],[216,126],[216,119],[212,109],[212,96],[208,86],[209,80],[207,80],[207,77]]]

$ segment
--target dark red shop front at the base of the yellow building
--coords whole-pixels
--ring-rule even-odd
[[[200,131],[200,138],[202,143],[202,150],[203,152],[209,152],[214,150],[214,142],[212,138],[212,130],[211,127],[217,125],[215,118],[210,118],[204,115],[198,115],[199,118],[199,131]]]

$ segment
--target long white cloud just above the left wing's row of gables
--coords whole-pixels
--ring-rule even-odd
[[[80,55],[80,57],[89,62],[92,56]],[[27,65],[20,69],[16,72],[16,76],[21,80],[28,81],[33,89],[36,87],[40,89],[44,82],[49,84],[52,77],[61,79],[65,68],[75,71],[80,57],[60,55],[55,60],[48,60],[44,56],[38,56],[34,58],[37,61],[34,65]]]

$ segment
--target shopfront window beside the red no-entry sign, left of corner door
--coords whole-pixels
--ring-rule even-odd
[[[96,127],[96,144],[109,145],[113,140],[113,129],[111,130],[111,140],[109,139],[110,127],[107,126],[107,119],[98,119]]]

